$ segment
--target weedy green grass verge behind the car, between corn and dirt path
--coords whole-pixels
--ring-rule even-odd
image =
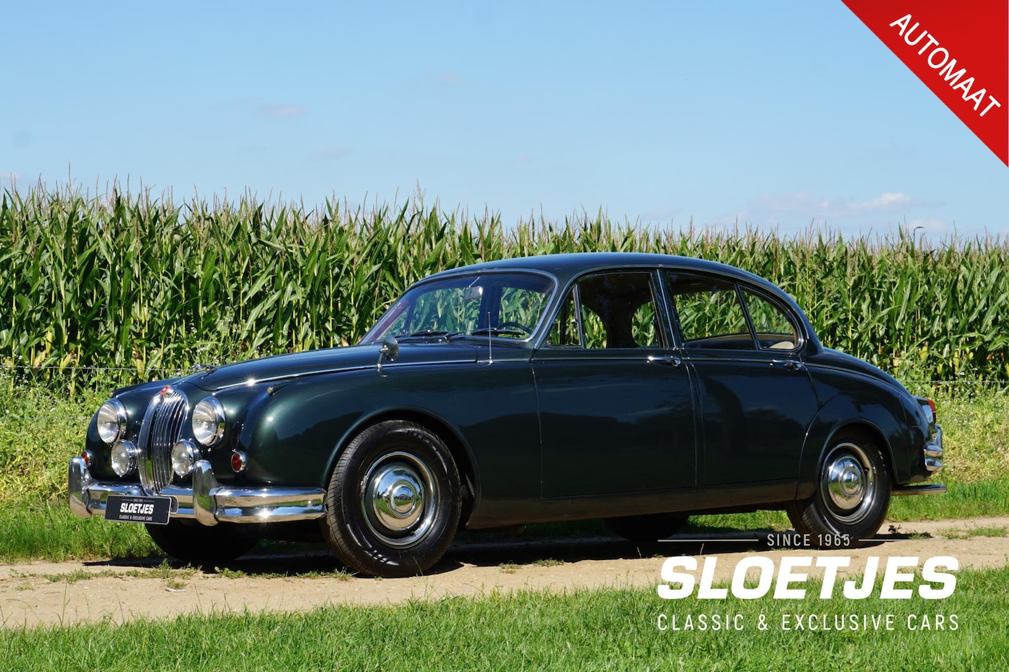
[[[75,396],[40,385],[0,385],[0,561],[130,558],[158,555],[141,526],[73,516],[66,504],[67,459],[82,444],[85,425],[103,397],[103,381]],[[935,479],[948,492],[898,497],[896,522],[1009,515],[1009,391],[965,385],[936,390],[946,449]],[[917,390],[926,392],[926,390]],[[39,446],[44,446],[44,449]],[[696,516],[686,531],[787,530],[782,512]],[[519,539],[608,536],[599,521],[530,525]],[[488,538],[462,533],[460,541]]]

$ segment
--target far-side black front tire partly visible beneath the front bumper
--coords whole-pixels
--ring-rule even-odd
[[[218,523],[213,527],[191,520],[147,525],[147,534],[171,557],[189,564],[217,566],[244,555],[259,540],[257,526]]]

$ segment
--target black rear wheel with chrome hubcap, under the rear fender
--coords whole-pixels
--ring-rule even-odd
[[[891,476],[882,449],[870,437],[834,437],[816,472],[816,492],[785,507],[795,531],[820,548],[859,546],[886,519]],[[847,535],[847,536],[846,536]]]

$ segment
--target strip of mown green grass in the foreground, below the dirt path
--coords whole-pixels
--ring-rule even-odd
[[[36,630],[7,623],[0,631],[0,669],[1004,670],[1007,584],[1009,568],[1001,568],[958,572],[954,594],[940,600],[819,599],[818,583],[810,581],[799,600],[667,601],[655,588],[519,591],[295,615],[197,614]],[[744,630],[682,630],[687,616],[696,623],[714,614],[734,623],[742,616]],[[859,630],[781,627],[785,615],[794,627],[793,615],[822,615],[832,623],[835,615],[853,614]],[[892,615],[894,629],[874,629],[874,615]],[[943,617],[942,630],[935,628],[936,615]],[[671,630],[674,616],[681,630]],[[770,625],[766,631],[758,628],[761,616]],[[927,617],[930,629],[910,630],[912,616],[914,626]]]

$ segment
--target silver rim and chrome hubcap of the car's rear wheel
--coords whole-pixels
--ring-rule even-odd
[[[863,520],[876,500],[876,475],[865,450],[855,443],[835,445],[823,461],[820,494],[837,521]]]

